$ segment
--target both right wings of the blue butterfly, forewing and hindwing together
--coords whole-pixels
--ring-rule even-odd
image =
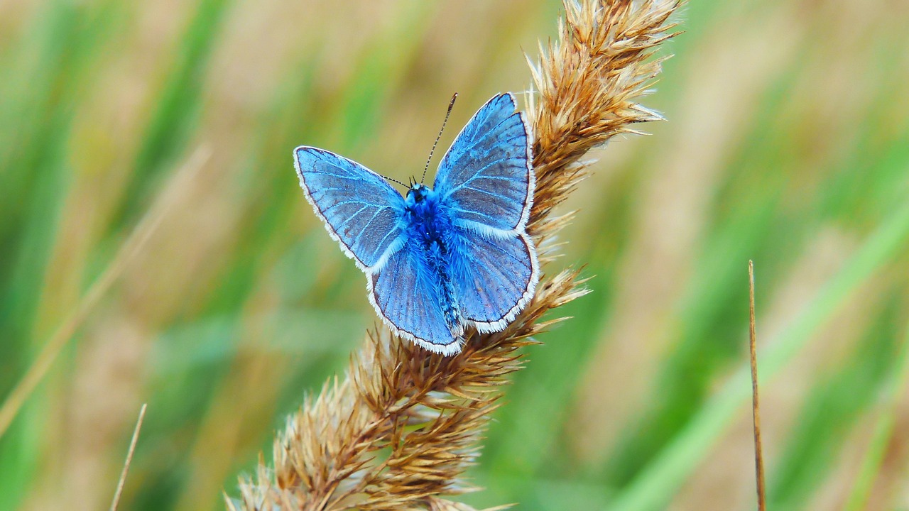
[[[439,164],[442,196],[460,243],[452,275],[461,316],[496,332],[534,295],[539,264],[524,227],[533,203],[530,129],[514,96],[490,99],[454,139]]]

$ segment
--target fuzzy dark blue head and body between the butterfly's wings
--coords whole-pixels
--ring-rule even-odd
[[[456,330],[460,324],[457,298],[449,272],[450,252],[454,248],[454,229],[445,209],[439,204],[439,195],[426,185],[417,184],[407,190],[405,211],[408,238],[418,240],[417,250],[425,257],[433,275],[432,280],[441,298],[445,323]]]

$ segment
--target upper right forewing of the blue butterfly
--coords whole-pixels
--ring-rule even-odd
[[[514,108],[511,94],[494,96],[464,125],[442,158],[434,189],[455,225],[487,234],[524,230],[534,173],[530,130]]]

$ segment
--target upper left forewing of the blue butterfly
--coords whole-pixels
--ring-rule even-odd
[[[404,197],[363,165],[315,147],[294,150],[306,199],[325,229],[367,274],[404,244]]]

